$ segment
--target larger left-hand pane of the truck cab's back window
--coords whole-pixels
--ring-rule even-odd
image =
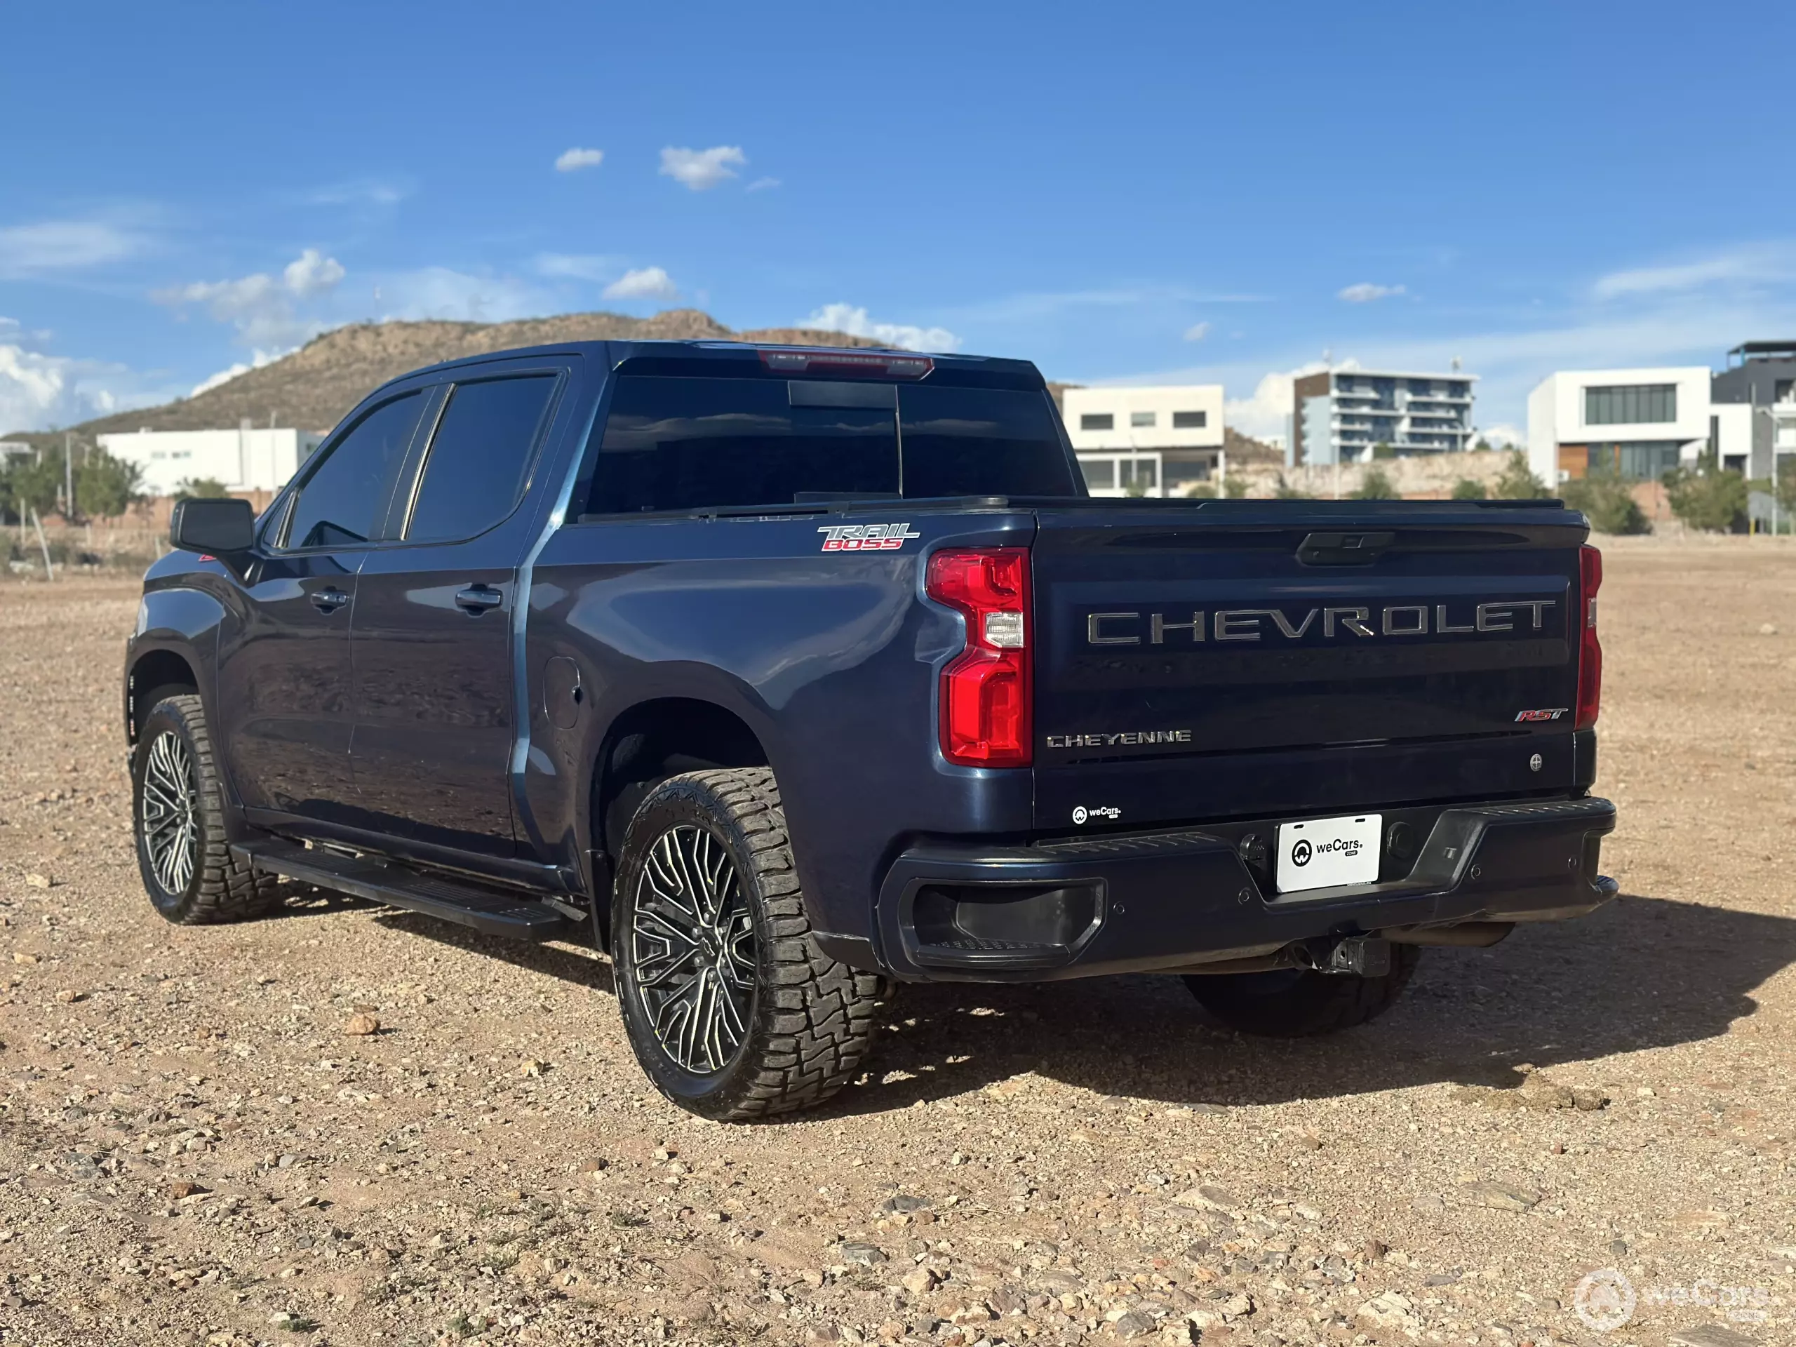
[[[815,392],[830,388],[867,392]],[[891,384],[618,379],[591,514],[792,505],[799,492],[898,494]]]

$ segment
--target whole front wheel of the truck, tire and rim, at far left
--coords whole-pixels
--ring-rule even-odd
[[[224,787],[194,693],[165,697],[144,717],[131,823],[144,891],[169,921],[241,921],[280,903],[278,880],[251,871],[224,841]]]

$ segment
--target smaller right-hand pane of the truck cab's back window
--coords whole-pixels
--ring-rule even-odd
[[[905,496],[1074,496],[1047,393],[900,384]]]

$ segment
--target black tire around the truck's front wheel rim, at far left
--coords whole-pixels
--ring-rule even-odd
[[[172,891],[156,878],[144,833],[144,776],[151,751],[163,735],[174,735],[187,749],[192,767],[194,858],[192,876]],[[224,841],[224,783],[219,779],[212,735],[199,697],[181,693],[163,697],[144,718],[144,729],[131,754],[131,833],[136,841],[136,867],[144,891],[163,918],[183,927],[214,921],[244,921],[280,905],[280,880],[259,875],[232,855]]]

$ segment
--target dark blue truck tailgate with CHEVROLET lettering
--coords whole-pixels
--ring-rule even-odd
[[[1573,783],[1580,515],[1092,503],[1038,524],[1042,828]]]

